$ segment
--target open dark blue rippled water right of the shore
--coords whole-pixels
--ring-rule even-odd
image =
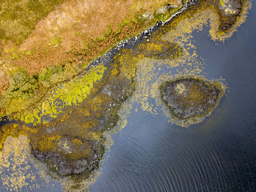
[[[193,33],[196,51],[208,79],[225,78],[227,97],[188,128],[132,109],[90,191],[256,191],[255,4],[224,44],[208,31]]]

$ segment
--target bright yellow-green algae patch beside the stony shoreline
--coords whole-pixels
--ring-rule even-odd
[[[53,90],[51,96],[42,102],[41,106],[33,109],[33,111],[24,111],[15,118],[26,122],[26,124],[46,124],[46,120],[42,120],[43,116],[51,116],[56,118],[65,106],[77,105],[83,99],[88,97],[93,86],[100,81],[106,67],[98,65],[91,68],[83,77],[72,79],[67,83],[62,83],[59,88]]]

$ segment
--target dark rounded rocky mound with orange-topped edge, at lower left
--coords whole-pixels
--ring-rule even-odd
[[[44,143],[44,145],[42,145]],[[60,175],[90,172],[99,164],[102,146],[99,141],[58,136],[31,141],[32,154]]]

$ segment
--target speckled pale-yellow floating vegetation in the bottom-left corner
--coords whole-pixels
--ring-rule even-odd
[[[31,172],[29,165],[31,156],[29,155],[29,143],[26,136],[12,136],[6,138],[4,148],[0,152],[0,179],[3,187],[10,191],[20,191],[20,189],[31,186],[28,180],[34,182],[35,173]],[[10,161],[12,158],[13,161]],[[6,170],[12,174],[6,174]],[[31,187],[32,188],[32,187]]]

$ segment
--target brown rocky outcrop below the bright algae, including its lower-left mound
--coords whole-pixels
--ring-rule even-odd
[[[31,139],[31,151],[51,171],[59,175],[88,175],[98,168],[104,154],[102,133],[115,127],[118,109],[134,92],[133,76],[127,78],[124,66],[113,65],[108,66],[83,102],[63,107],[65,113],[60,118],[38,126],[38,133]]]

